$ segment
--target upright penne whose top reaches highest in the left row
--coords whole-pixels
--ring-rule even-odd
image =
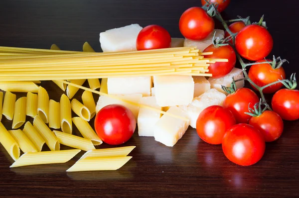
[[[41,86],[38,88],[37,94],[37,115],[39,115],[44,123],[49,122],[49,95]]]

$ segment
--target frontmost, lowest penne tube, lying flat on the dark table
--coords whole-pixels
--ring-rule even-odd
[[[131,156],[122,156],[81,159],[69,168],[67,172],[117,170],[124,166],[131,158]]]

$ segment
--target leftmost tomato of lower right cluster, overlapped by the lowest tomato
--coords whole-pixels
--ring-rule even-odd
[[[199,114],[196,131],[203,141],[209,144],[221,144],[225,131],[235,124],[236,119],[230,110],[213,105]]]

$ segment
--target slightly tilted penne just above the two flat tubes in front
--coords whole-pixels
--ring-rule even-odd
[[[83,151],[89,151],[89,150],[93,150],[96,149],[94,147],[94,145],[92,144],[91,140],[89,139],[85,139],[76,135],[71,135],[71,134],[67,134],[64,132],[60,132],[60,131],[53,131],[56,135],[56,137],[58,138],[58,141],[60,142],[60,144],[72,147],[72,148],[76,148],[76,149],[80,149]]]

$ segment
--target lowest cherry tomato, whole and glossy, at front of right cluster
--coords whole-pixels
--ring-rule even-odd
[[[250,166],[263,157],[266,143],[260,131],[249,124],[236,124],[223,136],[222,150],[233,163]]]

